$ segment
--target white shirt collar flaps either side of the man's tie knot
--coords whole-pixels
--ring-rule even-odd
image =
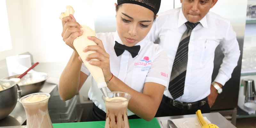
[[[209,12],[208,12],[209,13]],[[201,25],[204,27],[204,28],[208,28],[208,24],[207,24],[207,20],[206,20],[206,17],[208,15],[208,13],[204,16],[203,19],[201,19],[199,22],[201,23]],[[178,18],[178,28],[180,26],[182,26],[183,24],[185,24],[188,20],[185,18],[184,14],[183,14],[183,11],[182,9],[180,8],[180,11],[179,11],[179,18]]]

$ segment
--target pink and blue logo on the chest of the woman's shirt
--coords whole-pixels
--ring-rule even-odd
[[[134,68],[140,71],[148,71],[152,65],[152,61],[149,60],[149,57],[145,56],[140,62],[134,63]]]

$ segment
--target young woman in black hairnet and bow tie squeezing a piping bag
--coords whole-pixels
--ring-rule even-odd
[[[140,117],[150,121],[156,114],[170,79],[167,53],[158,44],[144,39],[157,17],[160,3],[161,0],[117,0],[116,32],[98,33],[97,38],[88,36],[98,45],[84,48],[84,52],[96,51],[86,58],[79,58],[72,44],[83,33],[80,25],[72,15],[63,18],[62,37],[74,52],[60,76],[61,98],[71,99],[90,75],[81,61],[86,60],[102,68],[106,81],[111,79],[107,83],[108,92],[122,91],[132,95],[127,111],[129,119]],[[123,53],[116,49],[115,45],[118,44],[125,45],[126,50],[121,50]],[[132,46],[139,47],[139,52],[128,52]],[[100,61],[90,61],[92,59]],[[94,79],[88,96],[94,104],[87,121],[105,120],[106,108],[101,99],[102,93]]]

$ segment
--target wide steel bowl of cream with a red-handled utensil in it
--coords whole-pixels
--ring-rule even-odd
[[[3,79],[17,78],[20,75],[9,76]],[[21,96],[28,95],[30,93],[39,92],[46,81],[49,78],[47,73],[43,72],[34,72],[28,73],[20,79],[20,82],[17,83],[20,86]]]

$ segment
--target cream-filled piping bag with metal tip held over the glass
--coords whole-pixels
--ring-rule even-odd
[[[66,6],[66,12],[62,12],[60,14],[60,19],[63,17],[69,16],[70,14],[74,15],[74,10],[71,6]],[[84,65],[86,68],[90,71],[92,74],[92,77],[96,81],[98,88],[101,90],[103,95],[108,98],[108,93],[107,93],[107,84],[105,82],[105,77],[103,75],[103,71],[100,67],[98,66],[93,66],[89,64],[87,61],[85,61],[85,58],[87,57],[88,54],[94,53],[95,51],[89,51],[89,52],[83,52],[83,49],[89,45],[97,45],[94,41],[89,40],[87,36],[95,36],[96,33],[94,30],[89,28],[88,26],[81,25],[83,28],[81,28],[84,32],[82,36],[76,37],[76,39],[73,42],[73,45],[78,52],[79,56],[84,62]],[[98,60],[98,59],[92,59],[92,60]],[[99,61],[99,60],[98,60]],[[106,98],[106,99],[107,99]]]

